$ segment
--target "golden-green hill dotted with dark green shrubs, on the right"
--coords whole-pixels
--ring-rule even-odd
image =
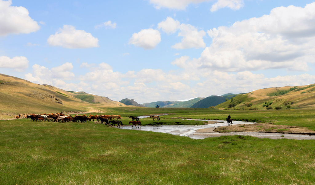
[[[266,107],[272,107],[274,109],[275,107],[282,107],[282,109],[286,109],[287,106],[290,106],[291,109],[315,108],[315,84],[255,90],[235,96],[233,101],[228,100],[215,108],[266,109]]]

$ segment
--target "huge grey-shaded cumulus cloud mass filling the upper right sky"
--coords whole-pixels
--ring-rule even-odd
[[[314,62],[315,3],[272,9],[269,15],[208,30],[212,43],[198,65],[224,71],[285,68],[307,71]]]

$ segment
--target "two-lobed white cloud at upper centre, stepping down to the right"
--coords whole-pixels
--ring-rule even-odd
[[[166,20],[158,23],[157,27],[167,34],[175,33],[177,30],[180,30],[178,36],[183,38],[180,43],[176,43],[172,46],[172,48],[189,49],[206,47],[206,43],[203,41],[203,37],[206,35],[206,32],[203,30],[198,31],[195,26],[190,24],[180,24],[178,20],[167,17]]]

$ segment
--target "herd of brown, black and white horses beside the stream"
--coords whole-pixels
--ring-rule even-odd
[[[81,123],[86,123],[87,121],[91,121],[96,119],[96,123],[97,122],[100,122],[101,124],[112,124],[112,126],[115,124],[117,124],[117,127],[120,128],[120,125],[123,125],[123,122],[121,121],[123,118],[120,116],[120,115],[89,115],[89,117],[86,115],[86,114],[83,114],[83,115],[75,115],[74,117],[72,117],[71,115],[64,115],[64,114],[61,114],[61,113],[50,113],[50,114],[19,114],[17,116],[14,116],[14,118],[16,119],[19,119],[19,118],[30,118],[31,121],[53,121],[53,122],[81,122]],[[115,120],[116,118],[116,120]],[[132,127],[135,125],[136,128],[137,128],[137,125],[138,125],[138,128],[141,127],[141,121],[138,117],[134,117],[134,116],[129,116],[129,118],[132,119],[132,121],[129,121],[129,124],[132,124]],[[159,120],[159,116],[150,116],[150,118],[153,118],[153,121],[154,119],[157,119]],[[119,120],[119,121],[118,121]],[[136,121],[134,121],[136,120]]]

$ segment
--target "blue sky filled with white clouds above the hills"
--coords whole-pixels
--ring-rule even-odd
[[[315,83],[309,0],[0,0],[0,73],[114,101]]]

